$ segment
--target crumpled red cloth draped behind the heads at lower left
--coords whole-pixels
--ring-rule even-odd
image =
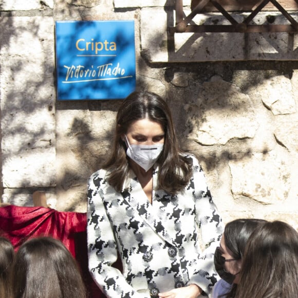
[[[78,260],[89,298],[104,297],[88,271],[86,213],[59,212],[44,207],[0,208],[0,232],[17,250],[28,238],[51,236],[62,241]]]

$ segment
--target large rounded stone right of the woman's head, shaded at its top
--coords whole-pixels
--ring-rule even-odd
[[[250,98],[233,84],[214,77],[204,82],[197,102],[185,105],[185,136],[204,145],[253,138],[258,127]]]

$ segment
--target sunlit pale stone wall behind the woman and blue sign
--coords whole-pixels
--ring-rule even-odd
[[[188,10],[190,1],[183,4]],[[170,105],[181,146],[199,158],[224,221],[262,217],[298,227],[295,34],[169,40],[171,0],[3,0],[0,9],[3,202],[32,206],[41,190],[52,208],[85,212],[86,181],[109,152],[121,101],[55,99],[54,22],[135,20],[137,89]],[[263,12],[256,22],[265,19]]]

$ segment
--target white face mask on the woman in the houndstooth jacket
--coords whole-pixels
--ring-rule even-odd
[[[130,145],[127,137],[125,136],[125,143],[127,146],[126,154],[132,160],[134,160],[139,166],[141,166],[146,172],[155,164],[158,160],[163,144],[155,145]]]

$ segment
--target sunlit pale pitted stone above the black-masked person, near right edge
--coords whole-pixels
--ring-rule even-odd
[[[292,184],[291,160],[282,148],[231,160],[229,166],[234,198],[247,197],[264,205],[288,199]]]

